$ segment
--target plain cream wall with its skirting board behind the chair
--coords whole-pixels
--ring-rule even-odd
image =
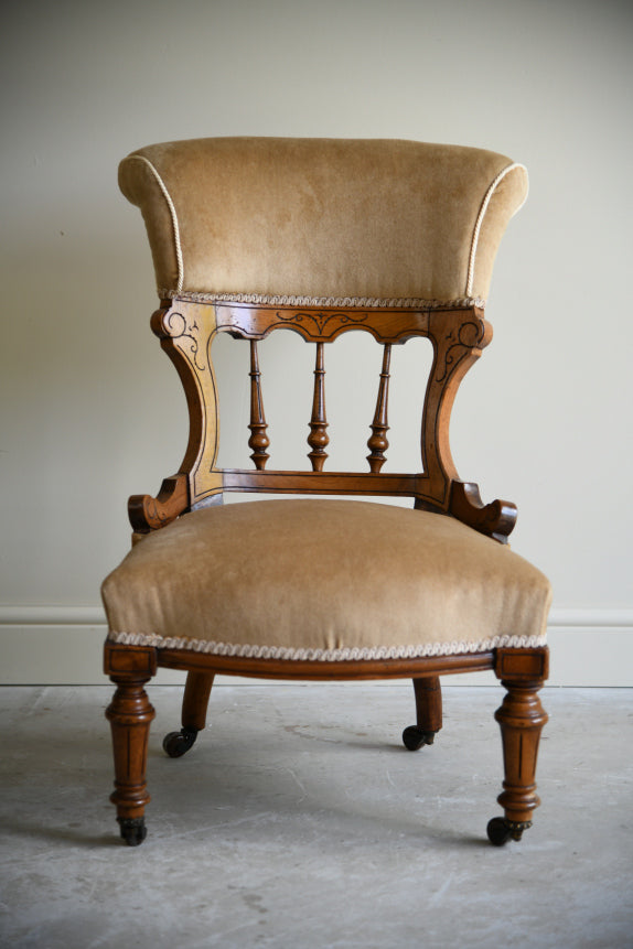
[[[513,546],[554,582],[554,681],[633,684],[631,4],[22,0],[3,40],[4,681],[101,681],[98,586],[128,544],[125,500],[183,450],[117,163],[247,133],[454,142],[528,165],[453,454],[485,499],[518,504]]]

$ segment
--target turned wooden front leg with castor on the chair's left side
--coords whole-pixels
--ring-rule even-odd
[[[144,808],[150,801],[146,784],[148,741],[150,724],[155,715],[143,688],[153,672],[139,662],[139,653],[125,656],[116,647],[106,647],[106,671],[110,672],[117,690],[106,710],[106,718],[112,731],[115,754],[115,790],[110,800],[117,807],[122,839],[130,846],[143,842],[146,838]],[[115,661],[108,662],[108,653],[115,654]],[[117,658],[118,654],[118,658]],[[129,669],[121,668],[128,665]],[[137,666],[137,669],[133,667]]]

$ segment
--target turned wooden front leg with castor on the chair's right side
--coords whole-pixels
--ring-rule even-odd
[[[540,804],[535,780],[538,744],[548,718],[537,694],[543,680],[504,679],[502,684],[507,694],[495,719],[501,726],[505,769],[497,801],[505,817],[493,818],[487,826],[489,839],[496,846],[509,838],[521,840],[523,831],[532,827],[532,813]]]

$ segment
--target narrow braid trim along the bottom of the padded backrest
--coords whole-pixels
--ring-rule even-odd
[[[178,298],[191,300],[192,303],[251,303],[261,306],[361,306],[400,310],[463,310],[470,306],[483,310],[485,306],[485,300],[480,296],[425,300],[421,296],[286,296],[266,293],[197,293],[193,290],[159,290],[158,295],[161,300]]]

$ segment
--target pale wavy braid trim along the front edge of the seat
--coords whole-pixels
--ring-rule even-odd
[[[364,659],[422,659],[430,656],[455,656],[489,653],[492,649],[532,649],[545,646],[546,636],[493,636],[476,643],[426,643],[415,646],[374,646],[364,649],[294,649],[287,646],[249,646],[236,643],[213,643],[153,633],[109,633],[111,643],[122,646],[153,646],[157,649],[186,649],[213,656],[240,659],[285,659],[294,662],[354,662]]]

